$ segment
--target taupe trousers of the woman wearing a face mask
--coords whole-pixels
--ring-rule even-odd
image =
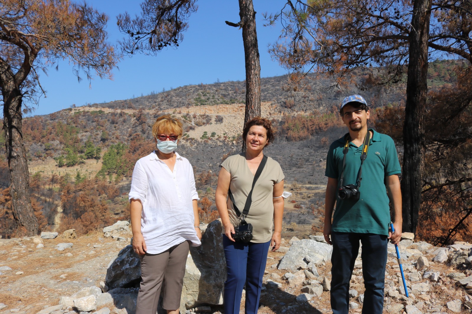
[[[164,281],[162,307],[166,310],[177,310],[180,307],[188,251],[188,241],[184,241],[162,253],[143,256],[136,314],[157,312],[162,281]]]

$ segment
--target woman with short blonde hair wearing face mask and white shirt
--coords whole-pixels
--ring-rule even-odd
[[[165,115],[152,126],[157,149],[136,162],[129,192],[133,249],[141,256],[136,314],[157,312],[162,281],[163,308],[178,314],[189,245],[199,246],[192,165],[175,151],[183,133],[178,119]]]

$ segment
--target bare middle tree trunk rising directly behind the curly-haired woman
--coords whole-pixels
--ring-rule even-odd
[[[256,12],[253,0],[239,0],[239,23],[226,24],[243,29],[244,60],[246,66],[246,110],[244,125],[255,116],[261,116],[261,64],[256,33]],[[246,145],[243,140],[243,152]]]

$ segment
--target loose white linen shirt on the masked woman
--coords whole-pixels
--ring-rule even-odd
[[[129,199],[143,204],[141,232],[147,253],[159,254],[190,240],[201,245],[194,228],[193,199],[198,198],[194,171],[187,158],[176,154],[174,172],[155,152],[136,162]]]

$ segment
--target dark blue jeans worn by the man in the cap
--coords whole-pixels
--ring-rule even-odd
[[[386,235],[372,233],[331,232],[331,308],[333,314],[349,312],[349,281],[362,243],[362,275],[364,277],[363,314],[381,314],[384,302]]]

